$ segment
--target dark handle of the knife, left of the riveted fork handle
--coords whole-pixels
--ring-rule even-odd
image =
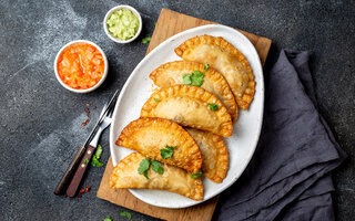
[[[78,151],[75,152],[72,161],[70,162],[69,167],[67,168],[63,177],[60,179],[60,181],[58,182],[55,189],[54,189],[54,194],[64,194],[65,193],[65,189],[71,180],[71,178],[74,175],[74,171],[81,160],[81,157],[83,156],[85,151],[85,148],[83,146],[81,146]]]

